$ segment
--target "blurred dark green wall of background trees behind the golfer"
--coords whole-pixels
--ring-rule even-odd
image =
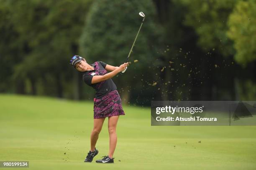
[[[255,100],[254,0],[0,0],[0,92],[91,100],[69,66],[122,64],[123,102]]]

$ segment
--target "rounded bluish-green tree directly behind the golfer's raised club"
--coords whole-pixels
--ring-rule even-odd
[[[138,15],[140,11],[146,14],[146,19],[131,53],[132,64],[125,74],[115,80],[123,88],[119,89],[126,102],[130,90],[137,94],[143,90],[141,79],[144,75],[152,76],[148,65],[157,58],[154,45],[158,42],[158,33],[154,22],[156,12],[153,3],[148,0],[94,1],[80,43],[81,54],[88,62],[102,60],[119,66],[126,60],[138,32],[142,21]],[[138,62],[134,63],[133,60]],[[131,86],[134,88],[131,89]]]

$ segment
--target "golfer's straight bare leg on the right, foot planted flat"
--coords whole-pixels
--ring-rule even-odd
[[[116,135],[116,125],[118,122],[118,116],[110,116],[108,117],[108,133],[109,133],[109,158],[113,158],[113,154],[115,151],[115,146],[117,143],[117,135]]]

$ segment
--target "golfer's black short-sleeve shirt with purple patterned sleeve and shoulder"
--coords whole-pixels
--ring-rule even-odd
[[[92,84],[92,77],[95,75],[105,75],[107,74],[107,70],[105,70],[106,63],[102,61],[96,61],[91,64],[94,67],[94,70],[83,72],[83,81],[93,87],[96,90],[95,98],[101,98],[109,92],[116,90],[116,85],[113,80],[110,78],[108,80],[97,82]]]

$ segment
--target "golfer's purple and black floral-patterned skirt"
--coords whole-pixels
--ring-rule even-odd
[[[102,117],[125,115],[121,98],[117,90],[109,92],[100,99],[94,99],[94,119]]]

